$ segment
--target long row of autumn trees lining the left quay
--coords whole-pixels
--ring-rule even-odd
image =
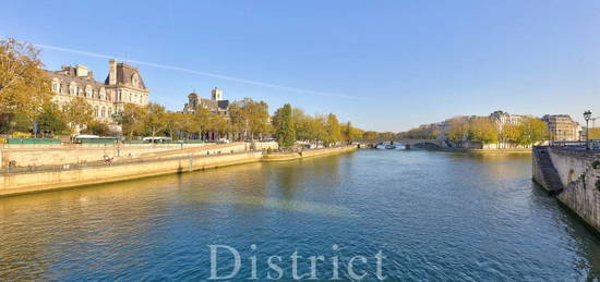
[[[112,132],[94,119],[93,107],[76,97],[70,103],[52,102],[51,82],[43,71],[39,50],[15,39],[0,40],[0,133],[11,137],[69,139],[75,130],[81,134],[117,136],[168,136],[173,140],[264,140],[277,138],[283,149],[304,146],[333,146],[363,137],[375,138],[393,133],[363,132],[349,122],[340,124],[329,114],[310,115],[286,105],[269,115],[264,101],[244,99],[232,102],[227,115],[199,107],[193,113],[168,111],[149,102],[142,107],[125,103],[111,118],[121,125]],[[77,127],[79,126],[79,127]]]

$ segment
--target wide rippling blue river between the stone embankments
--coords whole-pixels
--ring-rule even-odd
[[[289,281],[295,253],[304,279],[311,256],[320,280],[600,278],[600,238],[530,162],[360,150],[0,198],[0,280]]]

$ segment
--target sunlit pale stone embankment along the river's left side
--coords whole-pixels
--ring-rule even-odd
[[[0,196],[45,192],[76,186],[104,184],[182,173],[218,167],[259,161],[301,159],[356,149],[353,146],[305,150],[300,154],[264,155],[262,150],[249,150],[247,144],[229,144],[200,148],[182,148],[157,151],[140,158],[116,162],[91,162],[79,165],[53,165],[36,171],[17,171],[0,174]]]

